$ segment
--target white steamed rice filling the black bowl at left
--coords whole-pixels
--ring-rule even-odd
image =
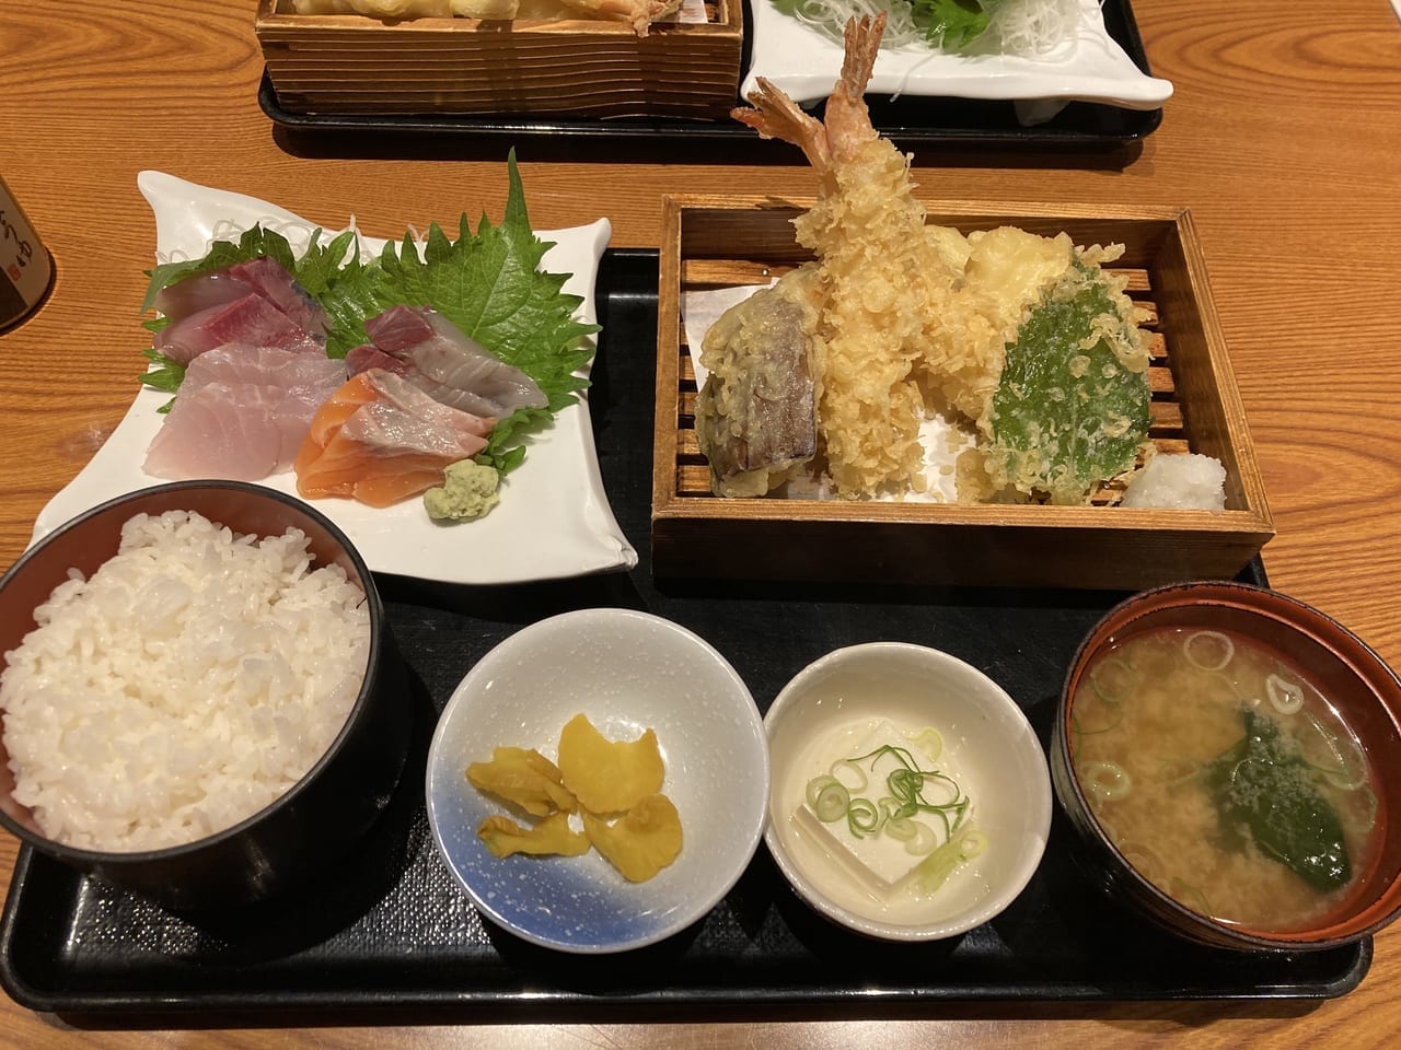
[[[0,673],[14,798],[50,839],[154,850],[238,823],[345,725],[368,658],[364,592],[300,529],[240,536],[136,515],[73,571]]]

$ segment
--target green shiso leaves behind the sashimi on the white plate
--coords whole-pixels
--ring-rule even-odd
[[[549,398],[545,409],[523,409],[492,430],[486,449],[476,459],[504,475],[525,458],[530,435],[548,427],[555,414],[587,388],[588,381],[574,372],[593,357],[594,347],[587,336],[598,330],[598,325],[574,321],[574,309],[583,300],[562,291],[570,274],[539,269],[552,244],[541,241],[531,230],[514,150],[506,167],[509,189],[499,225],[482,216],[474,234],[464,214],[455,239],[433,224],[422,253],[420,245],[406,232],[402,242],[389,241],[370,262],[361,260],[353,231],[322,244],[322,231],[317,230],[307,251],[294,258],[284,237],[255,225],[237,242],[214,242],[202,259],[153,269],[142,309],[150,311],[157,293],[168,284],[262,255],[286,266],[326,311],[328,357],[345,357],[353,347],[367,343],[364,322],[389,307],[432,307],[467,336],[530,375]],[[165,323],[164,318],[157,318],[144,322],[144,328],[156,332]],[[154,349],[144,353],[161,368],[149,371],[142,382],[174,392],[184,368]]]

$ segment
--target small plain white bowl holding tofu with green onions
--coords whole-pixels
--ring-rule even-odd
[[[808,780],[846,757],[834,748],[855,745],[881,721],[939,731],[943,753],[933,764],[955,776],[972,799],[974,827],[988,839],[934,893],[898,883],[863,889],[832,860],[832,841],[794,820]],[[764,841],[799,896],[828,918],[892,941],[955,937],[1006,909],[1041,862],[1051,830],[1041,742],[1016,701],[961,659],[906,643],[836,650],[800,671],[764,722],[772,766]]]

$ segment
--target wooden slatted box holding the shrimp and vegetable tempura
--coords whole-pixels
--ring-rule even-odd
[[[712,496],[695,437],[695,374],[681,319],[692,288],[766,284],[807,260],[792,220],[808,200],[663,202],[651,556],[658,577],[960,587],[1138,589],[1230,578],[1274,536],[1191,214],[1159,209],[929,202],[964,232],[1017,225],[1076,244],[1124,244],[1114,269],[1150,314],[1152,428],[1166,452],[1226,468],[1226,510],[878,503]]]

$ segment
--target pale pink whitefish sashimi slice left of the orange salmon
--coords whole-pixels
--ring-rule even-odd
[[[287,470],[343,361],[230,344],[196,357],[146,452],[154,477],[256,482]]]

